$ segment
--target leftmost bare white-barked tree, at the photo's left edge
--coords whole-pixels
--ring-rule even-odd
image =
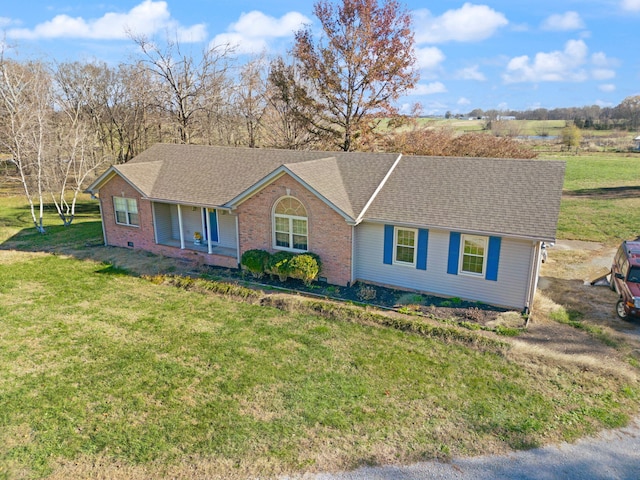
[[[44,63],[18,63],[0,51],[0,147],[16,167],[40,233],[45,233],[45,146],[51,98],[51,78]]]

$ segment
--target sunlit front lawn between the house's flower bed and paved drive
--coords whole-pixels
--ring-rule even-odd
[[[0,318],[9,478],[96,459],[162,475],[197,458],[226,478],[527,448],[623,425],[638,400],[623,378],[59,255],[0,251]]]

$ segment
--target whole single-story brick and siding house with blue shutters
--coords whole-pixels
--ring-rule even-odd
[[[528,310],[541,245],[555,241],[564,168],[159,144],[110,167],[88,192],[100,198],[106,245],[225,268],[239,268],[247,250],[309,251],[331,284]]]

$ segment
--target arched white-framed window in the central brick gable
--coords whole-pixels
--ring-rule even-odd
[[[307,210],[293,197],[281,198],[273,209],[273,247],[307,251]]]

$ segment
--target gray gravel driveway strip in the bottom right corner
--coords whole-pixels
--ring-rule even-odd
[[[575,444],[563,443],[509,455],[454,458],[406,467],[367,467],[316,474],[306,480],[637,480],[640,479],[640,418]]]

